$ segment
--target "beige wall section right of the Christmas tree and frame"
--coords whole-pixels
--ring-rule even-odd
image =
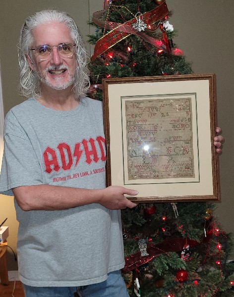
[[[167,5],[174,10],[175,43],[193,62],[193,71],[216,74],[218,125],[226,140],[220,156],[221,203],[216,214],[223,229],[234,232],[234,39],[229,36],[234,31],[234,1],[167,0]]]

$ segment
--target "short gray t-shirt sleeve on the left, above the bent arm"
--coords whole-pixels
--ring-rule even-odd
[[[14,115],[4,126],[4,152],[0,174],[0,193],[13,196],[12,188],[43,183],[41,166],[27,134]]]

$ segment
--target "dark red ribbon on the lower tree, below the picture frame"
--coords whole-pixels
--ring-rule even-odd
[[[201,244],[209,243],[213,235],[213,231],[207,233],[207,236],[203,239],[201,243],[194,241],[194,240],[187,240],[187,244],[190,247],[199,246]],[[166,240],[158,245],[152,245],[148,244],[147,252],[148,256],[141,256],[141,252],[137,251],[136,253],[125,257],[125,266],[122,269],[122,273],[126,273],[128,271],[131,271],[145,263],[148,263],[153,258],[157,257],[158,255],[162,253],[167,252],[177,252],[181,251],[183,249],[183,245],[185,243],[185,240],[183,238],[175,238]]]

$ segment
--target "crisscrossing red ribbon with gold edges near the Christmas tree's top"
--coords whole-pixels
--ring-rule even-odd
[[[106,28],[111,31],[109,33],[105,34],[102,38],[100,38],[96,42],[94,53],[91,57],[91,61],[95,60],[97,56],[101,55],[106,50],[112,48],[119,41],[125,39],[126,37],[128,37],[131,34],[141,37],[146,42],[152,44],[156,48],[163,49],[164,51],[167,51],[167,48],[163,45],[162,42],[148,36],[147,34],[145,34],[143,32],[139,32],[132,27],[132,25],[134,23],[136,23],[136,18],[133,18],[133,19],[125,22],[124,24],[107,22],[107,21],[100,20],[101,16],[103,16],[104,12],[105,12],[105,10],[94,12],[93,22],[97,26]],[[163,19],[168,14],[168,12],[169,12],[169,10],[168,10],[167,4],[164,1],[161,5],[156,6],[151,11],[145,12],[143,14],[143,18],[148,25],[154,24],[155,22]]]

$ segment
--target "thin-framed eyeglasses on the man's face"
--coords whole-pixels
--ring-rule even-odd
[[[36,49],[30,49],[35,51],[36,55],[40,58],[40,60],[49,60],[52,56],[53,49],[58,50],[59,55],[62,58],[70,58],[75,50],[76,45],[72,44],[60,44],[56,47],[50,46],[40,46]]]

